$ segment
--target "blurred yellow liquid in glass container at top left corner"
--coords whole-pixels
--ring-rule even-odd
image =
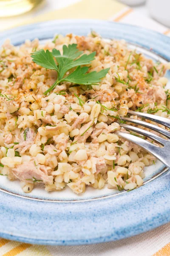
[[[30,11],[42,0],[0,0],[0,17],[11,17]]]

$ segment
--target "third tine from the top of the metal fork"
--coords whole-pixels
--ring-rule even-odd
[[[159,137],[156,134],[151,133],[150,131],[145,131],[141,128],[138,128],[138,127],[135,127],[135,126],[132,126],[132,125],[120,124],[120,126],[124,127],[127,130],[134,131],[134,132],[137,132],[139,134],[142,134],[145,137],[149,137],[150,139],[155,140],[158,143],[161,143],[161,145],[164,145],[166,143],[166,140],[162,139],[161,137]]]

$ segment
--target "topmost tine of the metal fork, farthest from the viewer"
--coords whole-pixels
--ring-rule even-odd
[[[137,111],[128,111],[128,113],[135,115],[135,116],[141,116],[144,117],[145,119],[151,120],[153,122],[157,122],[161,125],[166,126],[167,128],[170,128],[170,119],[167,119],[165,117],[162,116],[155,116],[152,114],[147,114],[147,113],[141,113],[141,112],[137,112]]]

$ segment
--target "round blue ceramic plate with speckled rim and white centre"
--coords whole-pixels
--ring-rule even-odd
[[[87,35],[91,29],[105,39],[125,39],[130,48],[154,61],[170,61],[170,38],[121,23],[101,20],[55,20],[0,34],[14,45],[54,34]],[[166,74],[170,78],[170,74]],[[170,84],[168,84],[170,87]],[[169,152],[167,152],[169,154]],[[159,161],[145,168],[144,185],[130,192],[105,187],[74,195],[65,188],[24,194],[18,181],[0,177],[0,237],[35,244],[74,245],[114,241],[151,230],[170,221],[170,172]]]

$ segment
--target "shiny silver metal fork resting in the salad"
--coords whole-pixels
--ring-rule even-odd
[[[167,119],[165,117],[155,116],[155,115],[152,115],[152,114],[141,113],[141,112],[136,112],[136,111],[128,111],[128,113],[130,113],[131,115],[136,115],[136,116],[143,117],[143,118],[148,119],[150,121],[153,121],[153,122],[159,123],[161,125],[164,125],[167,128],[170,128],[170,119]],[[149,128],[153,131],[156,131],[159,134],[162,134],[165,137],[167,137],[168,139],[170,139],[170,132],[166,131],[165,129],[163,129],[163,128],[157,126],[157,125],[153,125],[153,124],[141,121],[141,120],[136,120],[136,119],[128,118],[128,117],[121,117],[121,119],[123,121],[126,121],[126,122],[132,122],[136,125],[142,125],[146,128]],[[170,167],[170,140],[165,140],[165,139],[159,137],[158,135],[153,134],[150,131],[145,131],[144,129],[137,128],[137,127],[132,126],[132,125],[127,125],[127,124],[124,124],[124,123],[119,123],[119,125],[124,127],[126,130],[134,131],[138,134],[141,134],[144,137],[148,137],[152,140],[155,140],[159,144],[161,144],[163,146],[162,148],[159,147],[159,146],[153,145],[149,141],[144,140],[140,137],[136,137],[132,134],[128,134],[128,133],[123,132],[123,131],[116,131],[117,135],[119,135],[120,137],[122,137],[124,139],[130,140],[131,142],[141,146],[142,148],[144,148],[145,150],[147,150],[148,152],[153,154],[155,157],[157,157],[166,166]]]

